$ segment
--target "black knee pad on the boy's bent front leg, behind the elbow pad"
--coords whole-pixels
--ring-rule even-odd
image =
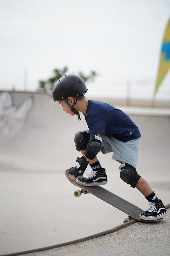
[[[76,149],[78,151],[85,150],[90,140],[89,130],[84,132],[78,131],[74,136],[74,142],[76,143]]]

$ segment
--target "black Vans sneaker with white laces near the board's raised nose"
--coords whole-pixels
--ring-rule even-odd
[[[104,168],[91,170],[86,177],[77,178],[76,182],[83,186],[96,186],[107,184],[107,175]]]

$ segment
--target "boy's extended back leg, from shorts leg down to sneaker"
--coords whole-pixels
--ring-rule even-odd
[[[131,187],[136,187],[149,201],[149,208],[140,214],[140,219],[156,220],[165,217],[167,211],[163,202],[161,199],[158,199],[148,182],[138,175],[136,171],[140,138],[127,143],[112,139],[111,143],[115,149],[113,159],[122,162],[119,167],[121,179],[130,184]],[[118,156],[121,157],[119,158]]]

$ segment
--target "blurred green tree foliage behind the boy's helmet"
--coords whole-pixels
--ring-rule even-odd
[[[62,76],[64,76],[68,71],[68,67],[65,66],[63,69],[54,69],[53,73],[54,75],[50,78],[48,78],[47,81],[40,80],[39,81],[39,87],[37,91],[42,91],[42,92],[50,92],[53,90],[54,84],[57,80],[59,80]],[[90,74],[86,76],[82,71],[78,72],[78,75],[83,78],[85,82],[88,81],[94,81],[94,78],[97,76],[97,73],[92,70],[90,71]]]

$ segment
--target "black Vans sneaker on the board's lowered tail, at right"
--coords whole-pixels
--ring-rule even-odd
[[[156,220],[167,215],[167,211],[161,199],[156,202],[149,202],[148,210],[139,215],[140,219]]]

